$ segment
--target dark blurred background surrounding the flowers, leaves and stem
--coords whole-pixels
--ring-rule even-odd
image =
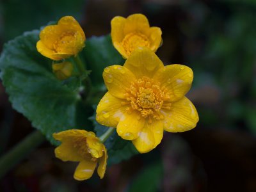
[[[90,38],[108,34],[116,15],[132,13],[162,29],[157,56],[165,64],[193,69],[188,97],[198,109],[197,127],[166,133],[152,152],[84,182],[72,179],[76,164],[56,159],[45,141],[0,180],[0,191],[256,191],[256,1],[2,0],[0,51],[65,15]],[[33,130],[0,84],[1,155]]]

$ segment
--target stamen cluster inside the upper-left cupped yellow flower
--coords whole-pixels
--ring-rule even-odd
[[[62,33],[60,38],[56,40],[56,42],[53,45],[55,51],[60,53],[73,53],[74,44],[76,43],[74,35],[74,31]]]

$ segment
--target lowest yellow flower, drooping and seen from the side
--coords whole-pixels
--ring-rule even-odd
[[[79,162],[74,173],[74,179],[85,180],[92,177],[97,163],[99,163],[98,175],[100,179],[104,177],[108,158],[107,150],[94,132],[70,129],[54,133],[52,136],[62,142],[55,149],[57,158],[62,161]]]

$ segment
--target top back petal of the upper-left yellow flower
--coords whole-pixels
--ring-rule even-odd
[[[58,21],[58,26],[62,31],[77,31],[82,36],[83,41],[85,41],[84,31],[79,25],[79,23],[77,22],[77,20],[74,19],[74,17],[72,16],[62,17]]]

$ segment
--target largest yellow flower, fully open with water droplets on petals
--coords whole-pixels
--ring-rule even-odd
[[[191,88],[193,72],[184,65],[167,65],[147,47],[140,47],[124,67],[104,69],[108,92],[97,106],[97,121],[116,131],[141,153],[155,148],[163,131],[182,132],[198,122],[195,106],[184,95]]]

